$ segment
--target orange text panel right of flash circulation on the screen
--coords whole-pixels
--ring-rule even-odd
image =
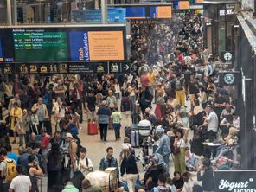
[[[89,31],[88,42],[92,61],[125,60],[122,31]]]

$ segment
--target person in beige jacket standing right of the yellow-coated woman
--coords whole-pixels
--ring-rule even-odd
[[[41,132],[44,121],[49,118],[47,106],[42,103],[42,98],[38,98],[37,103],[32,106],[31,110],[35,112],[38,117],[38,132]]]

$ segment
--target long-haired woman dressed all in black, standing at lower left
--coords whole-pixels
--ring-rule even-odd
[[[48,190],[59,189],[62,186],[62,154],[59,144],[53,143],[52,149],[48,153]]]

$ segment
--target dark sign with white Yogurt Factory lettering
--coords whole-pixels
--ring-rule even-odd
[[[215,192],[256,191],[256,170],[216,170]]]

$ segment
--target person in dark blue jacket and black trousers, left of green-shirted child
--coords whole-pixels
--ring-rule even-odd
[[[100,139],[101,141],[106,142],[106,135],[107,135],[107,126],[109,125],[109,119],[111,116],[111,110],[108,108],[106,100],[102,101],[101,106],[99,107],[99,110],[97,112],[99,123],[99,129],[100,129]]]

